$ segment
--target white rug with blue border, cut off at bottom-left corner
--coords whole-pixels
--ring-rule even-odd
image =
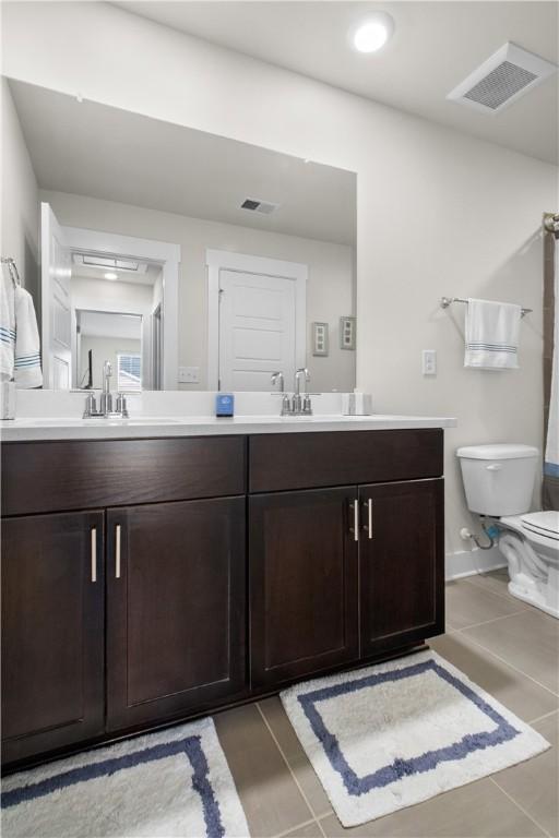
[[[211,718],[12,775],[3,838],[249,835]]]

